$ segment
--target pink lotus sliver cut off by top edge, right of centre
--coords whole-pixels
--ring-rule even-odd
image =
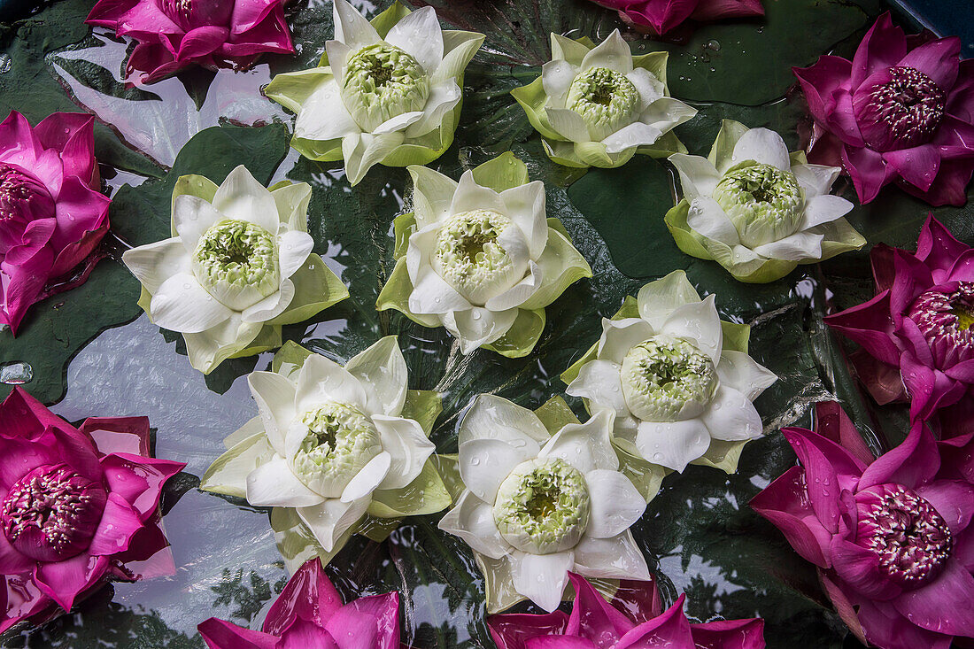
[[[761,0],[593,0],[635,29],[661,36],[685,20],[764,16]]]

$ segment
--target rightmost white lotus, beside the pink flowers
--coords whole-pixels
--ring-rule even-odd
[[[683,185],[666,213],[677,246],[740,282],[773,282],[866,243],[843,218],[852,204],[829,194],[841,170],[806,164],[773,131],[724,120],[708,158],[669,160]]]

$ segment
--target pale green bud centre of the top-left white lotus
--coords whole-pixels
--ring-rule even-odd
[[[430,79],[412,55],[376,43],[349,57],[341,95],[358,127],[371,133],[393,117],[423,110]]]

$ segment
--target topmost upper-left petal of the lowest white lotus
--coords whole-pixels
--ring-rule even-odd
[[[533,411],[495,395],[480,395],[460,423],[458,442],[470,439],[501,439],[515,445],[523,441],[526,452],[538,455],[540,443],[550,436]]]

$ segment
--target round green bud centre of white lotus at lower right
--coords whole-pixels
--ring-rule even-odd
[[[717,392],[714,363],[682,338],[656,335],[626,353],[619,372],[622,396],[643,421],[699,416]]]

